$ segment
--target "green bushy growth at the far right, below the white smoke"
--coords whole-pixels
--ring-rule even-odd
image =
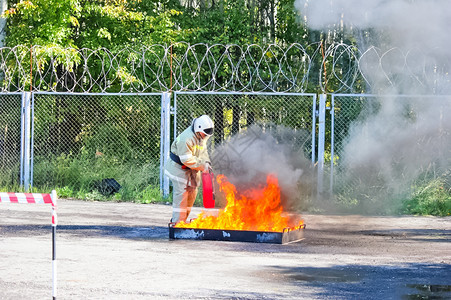
[[[451,186],[437,178],[414,187],[412,197],[404,201],[403,213],[449,216],[451,214]]]

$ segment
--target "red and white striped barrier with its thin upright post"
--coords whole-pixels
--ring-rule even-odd
[[[37,203],[52,204],[52,296],[56,299],[56,191],[51,194],[34,193],[0,193],[0,202],[4,203]]]

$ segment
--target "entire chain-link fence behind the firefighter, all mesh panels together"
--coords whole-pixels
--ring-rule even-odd
[[[162,184],[161,142],[169,145],[202,114],[215,122],[209,150],[221,173],[239,165],[217,151],[222,145],[252,158],[252,145],[271,133],[274,144],[290,145],[310,165],[320,155],[317,137],[324,138],[324,190],[329,186],[331,196],[345,204],[365,199],[383,204],[381,198],[402,197],[431,178],[451,187],[450,97],[334,94],[319,137],[314,94],[175,92],[172,101],[167,96],[33,93],[33,188],[89,198],[102,192],[103,180],[114,179],[122,186],[115,197],[155,197]],[[6,188],[20,183],[22,97],[0,95],[0,180]],[[161,133],[169,132],[162,117],[171,112],[170,138]]]

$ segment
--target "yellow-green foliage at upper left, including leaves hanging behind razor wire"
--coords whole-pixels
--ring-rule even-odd
[[[170,6],[169,9],[165,8],[166,5]],[[40,78],[32,73],[33,86],[40,86],[43,90],[55,89],[36,80],[51,82],[54,72],[59,75],[73,72],[75,76],[82,76],[86,67],[91,78],[95,79],[103,68],[112,67],[102,63],[125,48],[141,49],[147,45],[186,39],[186,30],[174,21],[182,14],[178,10],[180,6],[175,1],[167,1],[166,5],[160,1],[136,0],[10,1],[11,8],[3,14],[7,19],[4,42],[8,47],[18,47],[16,55],[22,58],[23,69],[39,68],[46,74],[47,78]],[[30,50],[33,45],[38,45],[34,51]],[[76,49],[83,48],[99,51],[86,64],[81,64]],[[30,55],[36,61],[33,66],[30,66]],[[57,64],[49,66],[52,58]],[[14,57],[10,59],[11,63],[17,62]],[[128,63],[120,60],[120,65],[114,66],[118,72],[111,72],[109,78],[101,79],[109,82],[111,91],[120,87],[118,78],[126,85],[141,82],[142,78],[127,71]],[[11,66],[11,70],[17,73],[17,66]],[[86,81],[87,85],[91,78]],[[15,80],[28,88],[31,78],[20,76]]]

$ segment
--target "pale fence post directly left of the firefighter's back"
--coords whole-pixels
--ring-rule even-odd
[[[164,175],[164,169],[169,159],[171,146],[171,93],[165,92],[161,96],[161,144],[160,144],[160,190],[163,196],[169,195],[169,178]]]

